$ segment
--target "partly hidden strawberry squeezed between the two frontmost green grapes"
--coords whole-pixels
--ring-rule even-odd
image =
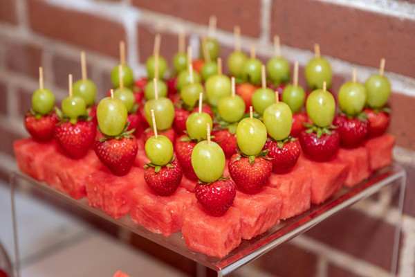
[[[176,144],[174,145],[177,160],[181,164],[185,176],[187,179],[193,181],[199,179],[192,167],[192,151],[196,144],[195,141],[192,141],[189,136],[184,134],[177,139]]]

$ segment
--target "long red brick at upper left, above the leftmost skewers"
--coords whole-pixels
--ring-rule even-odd
[[[27,1],[30,28],[33,31],[119,57],[118,42],[125,39],[125,30],[121,24],[84,12],[59,8],[44,1]]]

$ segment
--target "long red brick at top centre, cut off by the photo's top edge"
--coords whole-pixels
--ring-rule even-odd
[[[239,25],[243,35],[259,37],[260,34],[260,0],[160,0],[157,5],[151,0],[133,0],[132,3],[138,8],[206,25],[210,15],[216,15],[218,28],[233,32],[234,26]]]

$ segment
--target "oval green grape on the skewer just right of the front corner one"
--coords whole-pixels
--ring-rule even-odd
[[[257,118],[243,118],[237,127],[237,144],[243,154],[255,156],[266,142],[266,127]]]

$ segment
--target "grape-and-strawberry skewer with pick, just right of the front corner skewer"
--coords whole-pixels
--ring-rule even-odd
[[[266,127],[257,118],[243,118],[237,127],[237,143],[240,149],[229,162],[229,174],[244,193],[258,193],[266,184],[273,169],[265,157],[268,150],[261,151],[266,142]]]

